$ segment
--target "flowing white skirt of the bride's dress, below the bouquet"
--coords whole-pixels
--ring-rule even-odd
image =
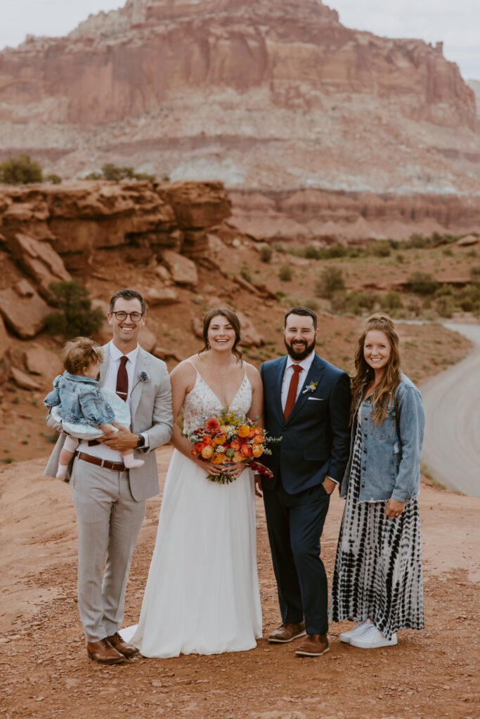
[[[137,626],[143,656],[245,651],[262,636],[253,472],[230,485],[174,450]]]

